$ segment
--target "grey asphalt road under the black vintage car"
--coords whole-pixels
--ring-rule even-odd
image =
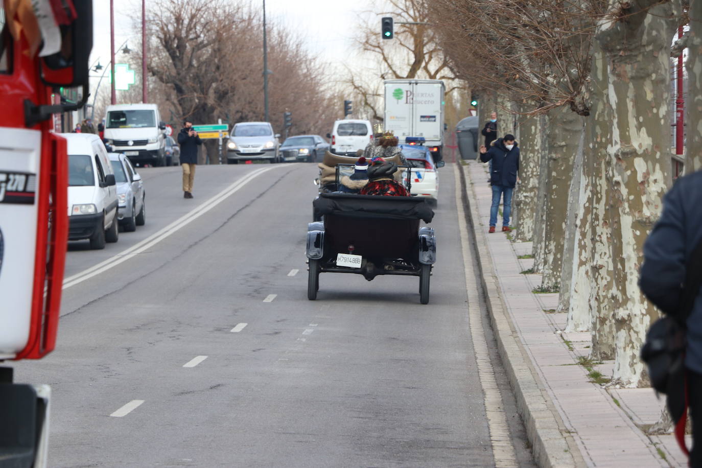
[[[179,168],[142,169],[147,225],[70,244],[57,349],[15,366],[52,386],[50,465],[495,466],[453,170],[423,306],[404,276],[323,274],[307,300],[312,164],[199,166],[192,200]],[[517,465],[533,466],[483,328]]]

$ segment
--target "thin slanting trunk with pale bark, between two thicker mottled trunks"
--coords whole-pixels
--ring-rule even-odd
[[[571,279],[573,277],[573,265],[575,249],[578,242],[578,218],[581,210],[582,187],[585,185],[583,179],[583,152],[585,147],[585,119],[580,117],[581,131],[578,138],[578,149],[575,154],[573,171],[571,172],[571,184],[568,190],[568,214],[566,217],[566,231],[563,243],[563,265],[561,266],[561,279],[559,281],[560,290],[558,296],[559,312],[567,312],[570,307]]]

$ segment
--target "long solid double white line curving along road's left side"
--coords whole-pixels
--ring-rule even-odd
[[[227,197],[238,192],[239,189],[241,189],[241,187],[244,187],[244,185],[251,182],[251,180],[257,178],[259,175],[267,171],[281,166],[282,164],[276,164],[274,166],[271,166],[270,168],[257,169],[256,171],[253,171],[252,173],[244,176],[243,178],[237,180],[237,182],[234,182],[232,185],[225,188],[222,192],[219,192],[218,194],[213,196],[211,199],[208,199],[204,203],[201,203],[201,205],[197,206],[197,208],[191,210],[190,213],[181,216],[177,220],[171,222],[170,225],[148,236],[143,241],[135,243],[130,248],[122,250],[117,255],[114,255],[108,258],[107,260],[98,263],[98,265],[93,265],[93,267],[85,269],[80,273],[74,274],[73,276],[69,276],[68,278],[64,279],[63,289],[70,288],[71,286],[75,286],[78,283],[82,283],[87,279],[91,279],[93,276],[106,272],[108,269],[116,267],[120,263],[126,262],[130,258],[135,257],[135,255],[138,255],[143,251],[147,250],[148,248],[155,246],[160,241],[166,239],[166,237],[170,236],[175,232],[178,232],[179,229],[182,229],[183,227],[189,225],[194,220],[197,220],[197,218],[199,218],[201,215],[204,215],[209,210],[217,206],[219,203],[225,201]]]

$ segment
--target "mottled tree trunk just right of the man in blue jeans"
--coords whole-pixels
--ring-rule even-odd
[[[515,194],[515,240],[528,242],[534,237],[534,217],[538,199],[538,170],[544,129],[541,115],[528,116],[519,125],[519,185]]]

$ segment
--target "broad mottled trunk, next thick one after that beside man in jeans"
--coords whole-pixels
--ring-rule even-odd
[[[549,112],[548,187],[546,188],[545,235],[541,288],[557,290],[563,265],[563,246],[568,213],[568,192],[578,151],[581,118],[569,107]]]

